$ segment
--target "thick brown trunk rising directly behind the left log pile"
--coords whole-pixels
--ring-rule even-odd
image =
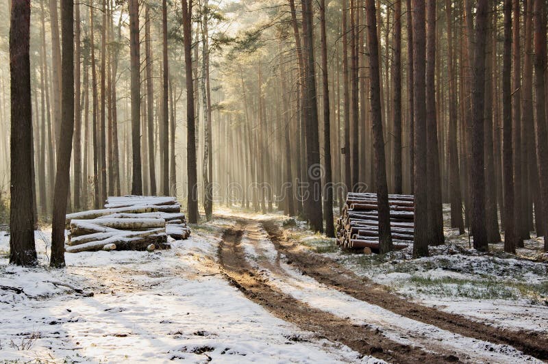
[[[141,121],[140,121],[140,51],[139,51],[139,1],[129,0],[129,49],[132,77],[132,194],[142,194],[141,174]],[[190,77],[192,81],[192,77]]]

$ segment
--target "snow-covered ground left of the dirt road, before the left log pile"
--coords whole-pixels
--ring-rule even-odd
[[[0,361],[360,361],[271,316],[223,279],[216,251],[230,224],[192,226],[190,239],[162,252],[66,254],[65,269],[45,266],[50,231],[36,233],[40,268],[8,265],[2,234],[0,285],[25,293],[0,289]]]

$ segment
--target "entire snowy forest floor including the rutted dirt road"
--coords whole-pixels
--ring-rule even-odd
[[[431,257],[341,251],[280,215],[216,211],[157,252],[8,265],[0,237],[0,361],[535,363],[548,359],[541,239],[480,255],[449,236]],[[540,360],[538,360],[540,359]]]

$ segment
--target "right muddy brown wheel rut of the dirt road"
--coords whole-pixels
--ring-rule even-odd
[[[292,242],[287,242],[276,222],[262,221],[262,225],[278,252],[286,256],[290,263],[303,274],[353,298],[375,304],[413,320],[431,324],[466,337],[473,337],[491,343],[513,346],[537,359],[548,359],[548,337],[528,330],[509,330],[495,328],[469,320],[454,313],[439,311],[432,307],[410,302],[386,291],[383,285],[373,283],[367,278],[357,276],[340,266],[332,259],[306,253]]]

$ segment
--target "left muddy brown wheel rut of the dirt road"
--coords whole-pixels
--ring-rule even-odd
[[[280,319],[316,333],[319,338],[343,343],[362,355],[375,356],[391,363],[450,363],[459,361],[453,354],[434,354],[422,348],[392,341],[379,330],[353,324],[275,289],[249,265],[240,247],[245,229],[237,226],[227,229],[219,245],[219,261],[227,279],[253,302],[260,304]]]

